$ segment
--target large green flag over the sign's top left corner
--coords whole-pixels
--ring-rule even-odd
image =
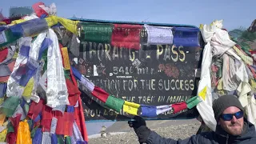
[[[82,22],[82,42],[110,43],[113,25]]]

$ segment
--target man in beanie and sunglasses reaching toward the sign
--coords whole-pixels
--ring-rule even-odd
[[[216,131],[193,135],[184,140],[175,141],[171,138],[162,138],[146,127],[143,118],[136,116],[135,121],[129,122],[134,127],[140,143],[147,144],[196,144],[196,143],[246,143],[256,144],[256,132],[253,124],[244,118],[241,103],[233,95],[225,95],[213,103],[214,117],[218,122]]]

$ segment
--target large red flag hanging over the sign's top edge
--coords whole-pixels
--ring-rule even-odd
[[[111,45],[138,50],[141,30],[140,25],[114,24]]]

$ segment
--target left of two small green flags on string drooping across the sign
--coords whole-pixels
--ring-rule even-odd
[[[110,95],[106,99],[105,106],[107,106],[110,109],[116,110],[117,112],[120,112],[124,102],[125,101],[122,98],[115,98],[114,96]]]

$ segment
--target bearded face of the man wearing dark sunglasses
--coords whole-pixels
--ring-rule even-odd
[[[234,114],[238,111],[241,111],[238,109],[238,107],[230,106],[226,108],[226,110],[223,111],[222,114]],[[224,121],[222,118],[219,119],[218,124],[222,126],[222,129],[225,130],[227,133],[231,135],[240,135],[242,134],[243,130],[243,117],[242,118],[236,118],[233,115],[233,118],[230,121]]]

